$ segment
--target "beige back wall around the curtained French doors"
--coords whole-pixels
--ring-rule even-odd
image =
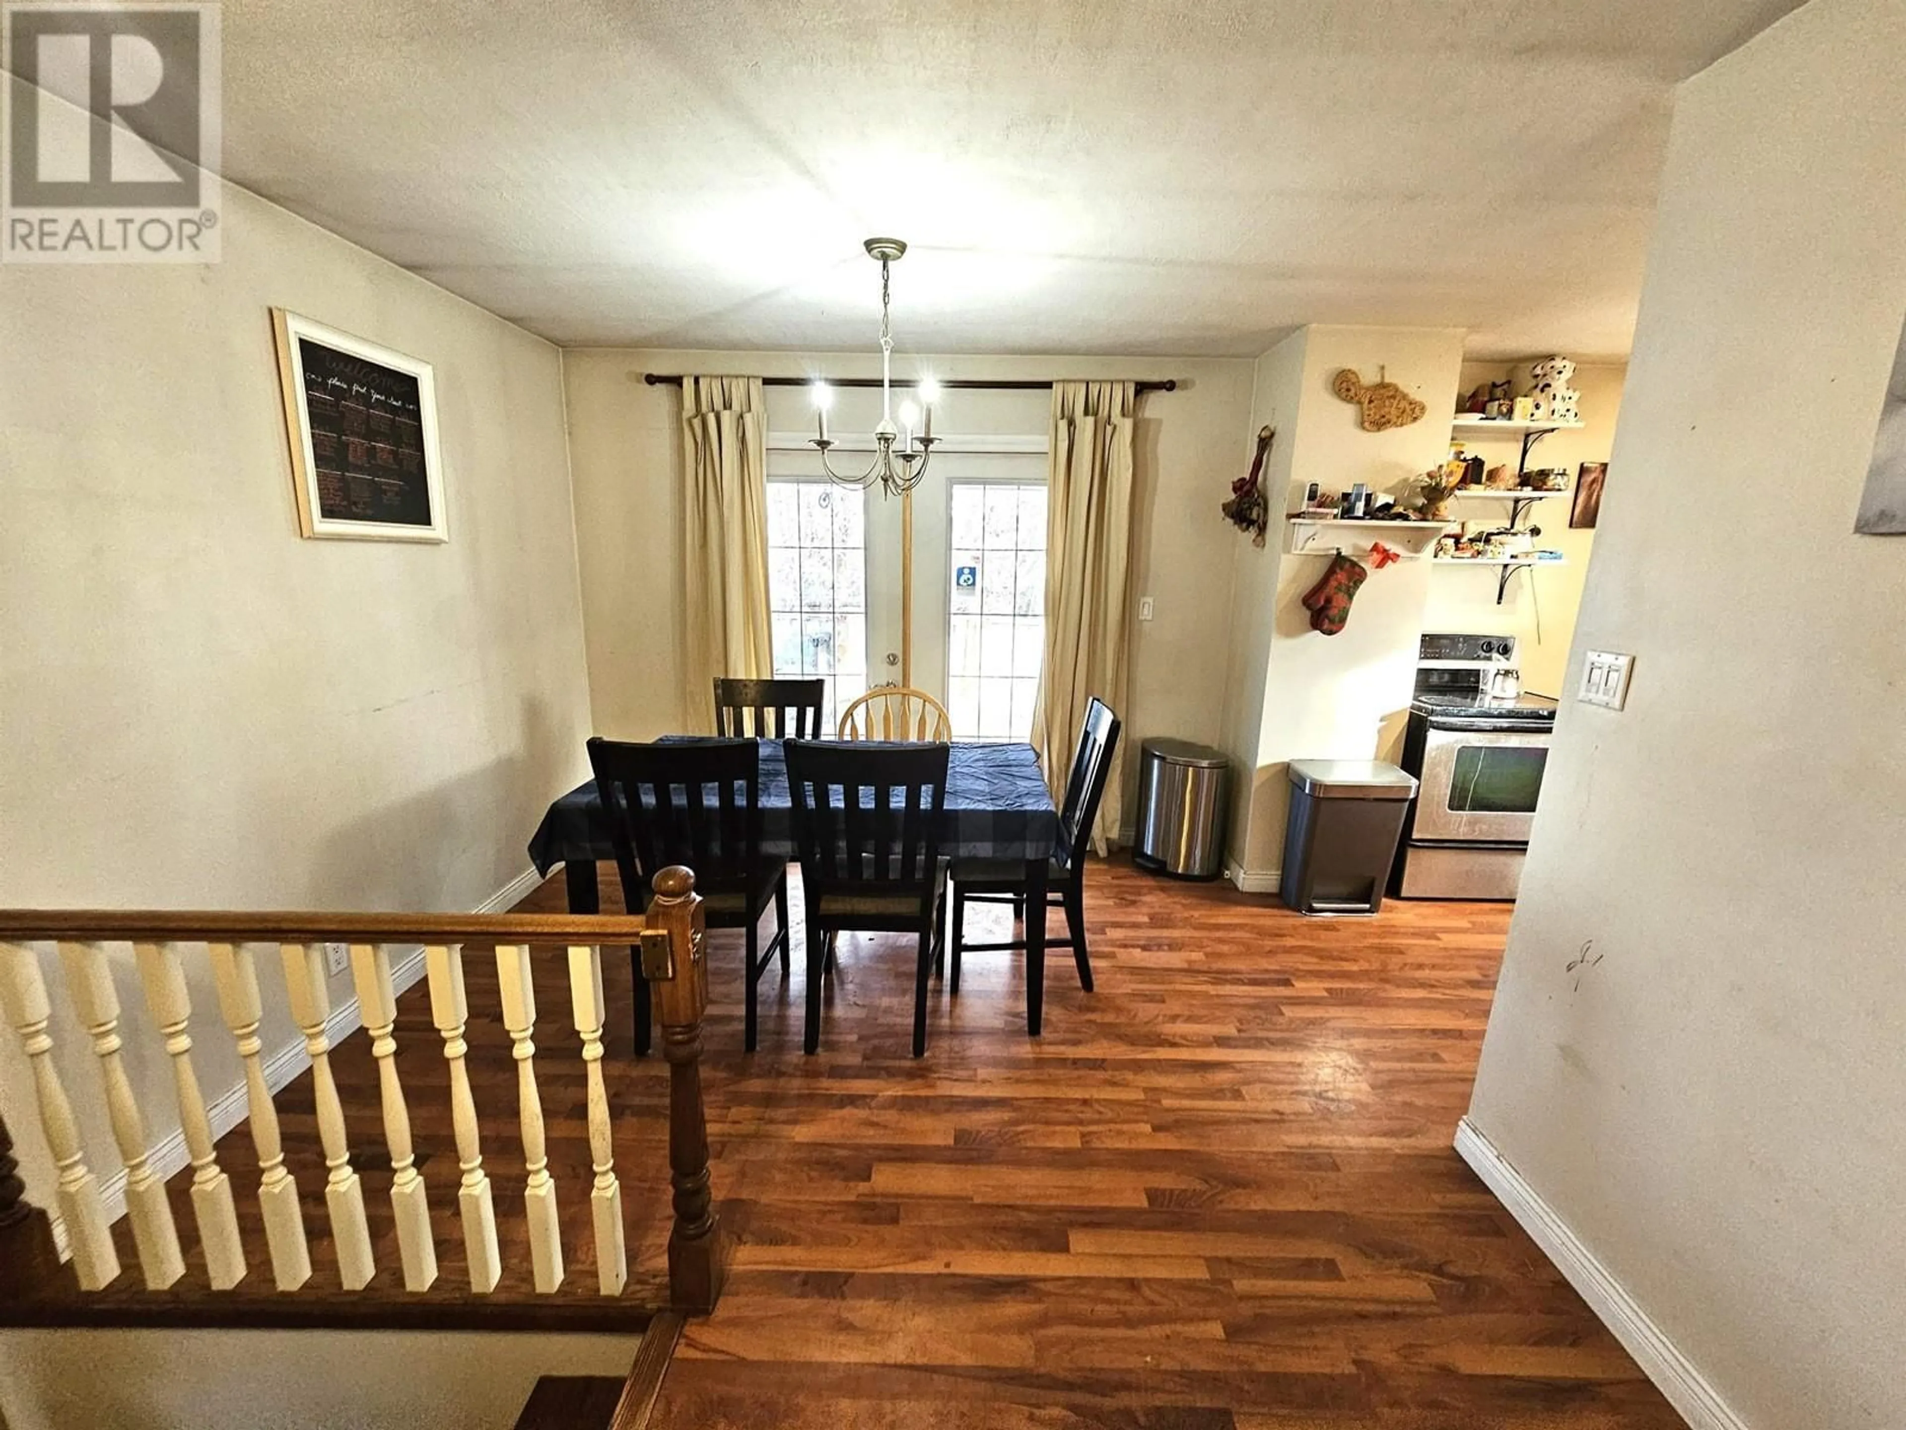
[[[1155,620],[1134,627],[1125,740],[1132,761],[1138,742],[1151,734],[1218,744],[1231,627],[1231,561],[1241,545],[1248,545],[1218,515],[1218,505],[1250,460],[1252,364],[1216,358],[921,357],[907,358],[902,370],[907,376],[930,370],[940,378],[1178,379],[1176,393],[1153,393],[1140,404],[1132,591],[1153,597]],[[595,728],[616,738],[652,738],[686,728],[679,654],[680,393],[648,387],[644,372],[743,372],[764,378],[825,372],[848,378],[877,376],[879,366],[863,355],[841,353],[564,353],[591,704]],[[854,400],[867,398],[842,395],[844,404]],[[768,389],[768,414],[774,431],[806,431],[812,423],[801,389]],[[947,395],[936,431],[1044,437],[1048,414],[1044,393],[957,391]],[[850,419],[852,408],[837,414],[837,433]],[[926,572],[934,570],[924,564],[928,538],[926,528],[921,530],[917,591],[923,591]]]

